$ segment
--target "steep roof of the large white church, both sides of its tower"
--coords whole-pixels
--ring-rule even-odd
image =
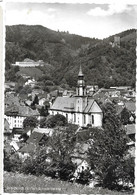
[[[75,111],[77,97],[57,97],[51,110]],[[83,108],[83,112],[102,112],[94,99],[89,98],[88,104]]]

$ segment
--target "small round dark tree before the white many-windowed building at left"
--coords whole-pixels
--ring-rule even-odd
[[[38,124],[38,120],[34,116],[28,116],[23,121],[23,127],[24,128],[35,128]]]

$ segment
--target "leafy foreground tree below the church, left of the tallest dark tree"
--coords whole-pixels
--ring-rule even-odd
[[[76,145],[77,125],[68,124],[66,127],[58,128],[53,132],[47,146],[50,148],[48,156],[50,157],[51,166],[48,171],[55,177],[69,180],[74,171],[75,165],[71,161]]]

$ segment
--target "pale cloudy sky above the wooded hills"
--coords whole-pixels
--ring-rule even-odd
[[[91,38],[103,39],[137,28],[134,0],[7,0],[5,8],[6,25],[38,24]]]

